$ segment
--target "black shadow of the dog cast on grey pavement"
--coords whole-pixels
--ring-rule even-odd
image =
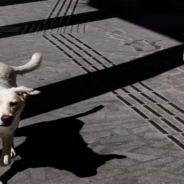
[[[11,168],[1,176],[6,183],[17,172],[27,168],[53,167],[74,173],[78,177],[88,177],[97,174],[97,168],[114,158],[125,158],[119,155],[100,155],[87,147],[79,134],[84,123],[77,120],[94,113],[103,106],[73,117],[42,122],[16,130],[15,136],[26,136],[27,139],[16,148],[22,157],[11,165]]]

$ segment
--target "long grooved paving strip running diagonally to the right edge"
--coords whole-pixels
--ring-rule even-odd
[[[130,81],[134,79],[128,76],[128,74],[122,71],[117,65],[104,57],[98,51],[91,48],[86,43],[76,38],[74,35],[68,34],[68,37],[66,37],[66,35],[51,34],[44,35],[43,37],[60,51],[62,51],[65,55],[67,55],[86,73],[92,75],[93,78],[95,78],[106,88],[108,88],[111,94],[115,96],[115,98],[120,100],[123,104],[129,106],[134,112],[136,112],[140,117],[147,120],[147,122],[154,126],[158,131],[167,135],[169,140],[174,142],[180,148],[184,149],[184,144],[182,143],[184,141],[183,131],[180,128],[181,125],[183,127],[182,118],[172,113],[170,110],[164,107],[163,104],[161,105],[159,102],[156,102],[154,99],[146,95],[143,91],[135,87],[133,84],[129,87],[138,92],[138,94],[140,94],[145,99],[145,102],[146,100],[152,102],[152,106],[146,105],[142,99],[139,99],[137,96],[135,96],[135,94],[131,94],[130,91],[125,89],[126,87],[121,87],[120,81],[123,80],[122,76],[128,77]],[[144,87],[146,90],[150,91],[156,97],[167,102],[167,104],[170,105],[172,108],[183,113],[180,107],[171,103],[168,99],[158,94],[158,92],[155,92],[143,82],[139,82],[138,84]],[[122,93],[120,93],[119,91],[121,91]],[[131,98],[133,101],[136,101],[138,106],[131,104],[129,98],[127,97]],[[167,116],[170,116],[169,119],[172,119],[173,122],[169,121],[167,119]],[[156,121],[153,120],[155,118],[160,119],[160,123],[156,123]],[[177,123],[179,123],[180,127],[178,127],[177,124],[174,124],[176,123],[175,120],[177,121]],[[179,136],[177,136],[177,138],[174,137],[176,133],[179,133]]]

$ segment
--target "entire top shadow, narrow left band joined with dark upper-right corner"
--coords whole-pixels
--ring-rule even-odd
[[[184,14],[182,11],[184,10],[184,2],[179,2],[179,0],[177,2],[172,0],[162,2],[140,0],[140,3],[143,10],[140,8],[141,5],[136,4],[130,9],[129,3],[125,0],[91,0],[88,5],[98,8],[99,11],[1,26],[0,38],[118,17],[132,24],[183,41]],[[179,7],[179,12],[177,12],[177,7]],[[153,13],[146,13],[150,11]]]

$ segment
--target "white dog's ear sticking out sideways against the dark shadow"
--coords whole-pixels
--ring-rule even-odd
[[[15,92],[17,95],[19,95],[23,100],[25,100],[28,95],[37,95],[41,92],[24,86],[11,88],[11,90]]]

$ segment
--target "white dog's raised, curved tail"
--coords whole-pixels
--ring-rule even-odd
[[[42,61],[42,55],[40,53],[35,53],[33,54],[31,60],[25,65],[11,66],[11,68],[13,68],[13,70],[17,74],[23,75],[25,73],[31,72],[35,70],[36,68],[38,68],[41,64],[41,61]]]

